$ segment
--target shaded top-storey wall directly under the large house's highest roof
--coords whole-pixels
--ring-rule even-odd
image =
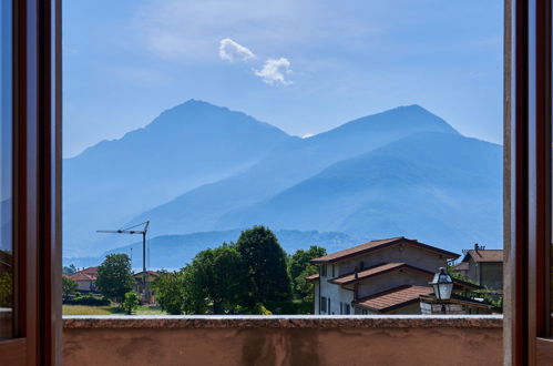
[[[338,263],[338,275],[351,273],[355,271],[356,266],[360,268],[361,261],[363,262],[365,267],[396,262],[407,263],[432,273],[438,272],[438,268],[446,267],[447,265],[447,258],[441,254],[437,254],[410,244],[397,244],[349,260],[340,261]]]

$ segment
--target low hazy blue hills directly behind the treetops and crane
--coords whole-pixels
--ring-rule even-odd
[[[221,232],[194,233],[187,235],[162,235],[153,237],[149,241],[150,260],[147,261],[149,268],[182,268],[186,263],[201,251],[207,247],[216,247],[223,242],[236,242],[242,230],[228,230]],[[299,248],[308,248],[310,245],[320,245],[329,251],[340,251],[348,246],[366,241],[363,237],[352,237],[342,233],[326,233],[326,232],[303,232],[303,231],[276,231],[280,245],[284,250],[291,254]],[[131,251],[132,248],[132,251]],[[125,245],[103,253],[98,257],[80,257],[63,260],[64,265],[74,264],[78,267],[96,266],[102,263],[107,254],[126,253],[133,256],[133,268],[142,267],[142,242],[133,242],[131,245]]]

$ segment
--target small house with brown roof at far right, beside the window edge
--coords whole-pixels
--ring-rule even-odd
[[[503,250],[485,250],[474,244],[473,250],[463,251],[464,256],[455,271],[480,286],[503,289]]]

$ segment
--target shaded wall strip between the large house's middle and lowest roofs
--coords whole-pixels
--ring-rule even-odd
[[[428,286],[432,277],[416,271],[393,271],[369,277],[359,284],[359,297],[369,296],[401,285]]]

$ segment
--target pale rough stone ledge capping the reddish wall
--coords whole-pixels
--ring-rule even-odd
[[[63,316],[65,329],[105,328],[501,328],[502,315],[95,315]]]

